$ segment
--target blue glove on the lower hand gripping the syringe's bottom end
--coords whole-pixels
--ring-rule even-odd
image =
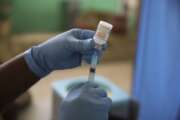
[[[112,101],[94,83],[74,88],[60,106],[60,120],[108,120]]]

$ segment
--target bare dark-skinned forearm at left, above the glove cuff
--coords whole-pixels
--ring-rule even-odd
[[[39,80],[19,55],[0,66],[0,111]]]

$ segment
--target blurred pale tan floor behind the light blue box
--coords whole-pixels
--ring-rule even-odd
[[[130,93],[131,88],[131,62],[119,62],[99,65],[97,74],[112,80],[119,87]],[[88,74],[88,66],[56,71],[42,79],[30,91],[33,95],[31,107],[23,111],[19,120],[51,120],[51,84],[55,80],[78,77]]]

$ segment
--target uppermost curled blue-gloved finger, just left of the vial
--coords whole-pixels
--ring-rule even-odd
[[[81,40],[93,38],[95,34],[95,31],[88,29],[79,29],[79,28],[72,29],[71,32],[75,38]]]

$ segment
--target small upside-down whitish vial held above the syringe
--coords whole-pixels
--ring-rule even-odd
[[[105,21],[100,21],[94,35],[95,43],[98,45],[103,45],[107,43],[109,35],[111,33],[113,26]]]

